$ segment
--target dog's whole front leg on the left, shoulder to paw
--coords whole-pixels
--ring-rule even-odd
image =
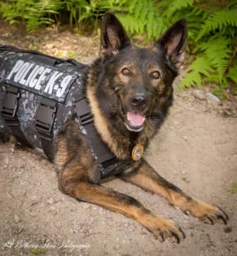
[[[95,161],[75,122],[68,122],[59,134],[54,161],[63,193],[128,216],[145,226],[160,241],[171,238],[179,243],[184,238],[183,231],[173,221],[155,216],[133,197],[99,185]]]

